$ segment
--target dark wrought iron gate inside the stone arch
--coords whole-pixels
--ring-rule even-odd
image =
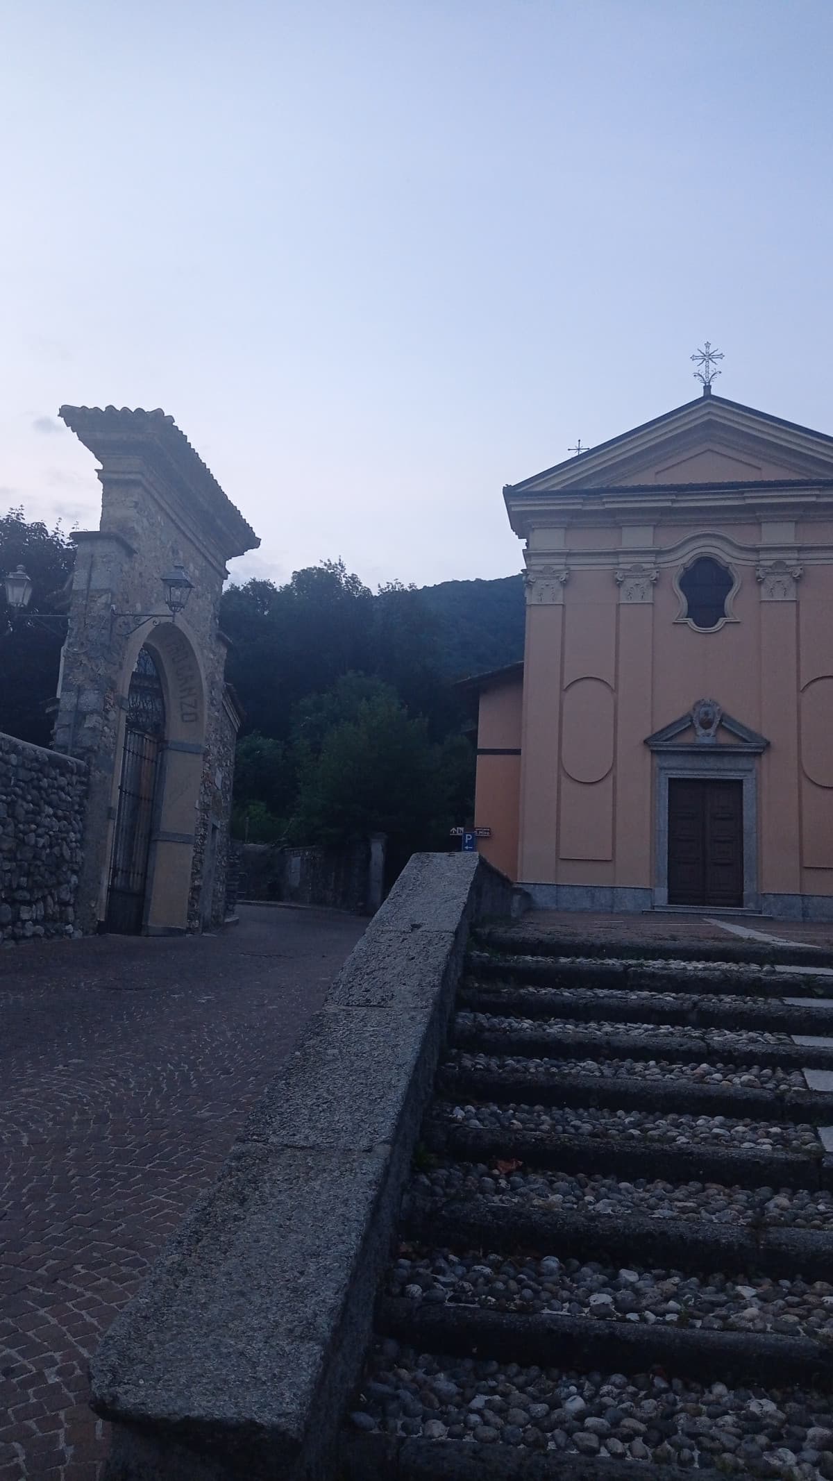
[[[151,655],[142,649],[127,696],[121,783],[107,896],[107,930],[123,936],[138,936],[142,930],[163,736],[161,681]]]

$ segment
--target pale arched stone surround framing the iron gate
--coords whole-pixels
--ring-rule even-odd
[[[146,935],[172,935],[188,927],[189,893],[197,844],[197,819],[206,751],[206,681],[197,647],[182,619],[154,622],[130,640],[121,681],[121,724],[114,767],[108,890],[120,853],[121,783],[130,755],[130,683],[139,655],[145,652],[158,674],[164,701],[164,735],[158,748],[149,826],[141,920],[135,929]],[[109,900],[108,900],[109,906]],[[112,920],[112,909],[107,908]]]

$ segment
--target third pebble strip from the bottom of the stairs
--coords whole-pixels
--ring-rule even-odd
[[[544,1208],[592,1214],[641,1214],[651,1219],[707,1219],[772,1228],[824,1229],[833,1235],[833,1194],[799,1188],[738,1188],[724,1183],[620,1182],[598,1173],[552,1173],[436,1158],[417,1171],[411,1188],[422,1198],[488,1197],[528,1200]]]

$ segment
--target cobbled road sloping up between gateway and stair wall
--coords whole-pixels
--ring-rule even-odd
[[[240,917],[0,951],[0,1481],[98,1481],[87,1360],[365,924]]]

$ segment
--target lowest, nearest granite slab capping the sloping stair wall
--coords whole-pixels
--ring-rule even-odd
[[[90,1364],[95,1408],[280,1472],[302,1444],[385,1152],[235,1148]],[[244,1474],[235,1472],[235,1474]]]

